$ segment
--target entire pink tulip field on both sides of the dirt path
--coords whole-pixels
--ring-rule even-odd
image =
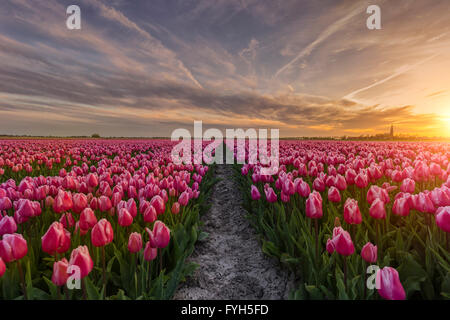
[[[171,299],[217,181],[173,146],[0,140],[0,299]],[[286,140],[279,156],[274,175],[226,178],[291,299],[450,299],[448,143]]]

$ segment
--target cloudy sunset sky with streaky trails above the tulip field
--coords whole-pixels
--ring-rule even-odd
[[[448,0],[2,0],[0,134],[170,136],[197,120],[450,136],[449,19]]]

